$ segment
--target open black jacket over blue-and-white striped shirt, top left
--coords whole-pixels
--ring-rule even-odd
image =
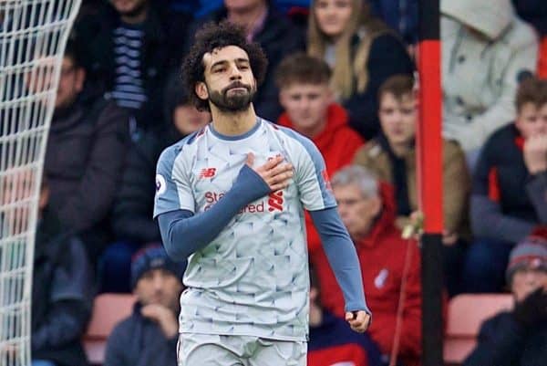
[[[182,45],[191,16],[172,13],[161,5],[150,2],[144,22],[144,43],[140,54],[140,75],[147,96],[142,110],[136,115],[139,126],[160,130],[161,103],[168,70],[180,67]],[[82,16],[75,25],[77,44],[82,45],[82,62],[88,80],[102,92],[114,88],[116,62],[114,59],[113,31],[120,24],[119,14],[108,4],[102,5],[97,14]]]

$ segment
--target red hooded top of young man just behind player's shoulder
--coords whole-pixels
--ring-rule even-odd
[[[290,120],[287,113],[281,115],[278,123],[281,126],[294,129],[293,121]],[[323,155],[326,170],[331,175],[349,164],[356,151],[364,143],[361,136],[349,127],[346,110],[335,103],[327,109],[325,129],[313,137],[312,141]],[[305,226],[308,251],[313,252],[321,246],[321,239],[309,214],[305,216]]]

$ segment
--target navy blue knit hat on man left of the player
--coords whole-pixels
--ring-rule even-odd
[[[152,269],[165,269],[182,281],[186,262],[172,261],[163,246],[147,246],[139,250],[131,260],[131,287],[135,288],[140,277]]]

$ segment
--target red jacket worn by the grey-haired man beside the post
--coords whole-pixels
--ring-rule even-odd
[[[380,185],[382,211],[369,234],[356,242],[363,274],[366,302],[374,314],[368,333],[383,354],[393,347],[397,306],[403,268],[409,256],[406,300],[403,310],[399,359],[405,365],[416,364],[421,354],[421,282],[418,244],[401,238],[395,226],[395,204],[390,185]],[[312,261],[321,284],[321,302],[338,317],[344,317],[344,298],[338,288],[325,252],[317,250]]]

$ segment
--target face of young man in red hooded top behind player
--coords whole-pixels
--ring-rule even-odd
[[[332,94],[327,84],[294,83],[282,87],[280,101],[294,129],[313,137],[309,132],[318,132],[325,126]]]

